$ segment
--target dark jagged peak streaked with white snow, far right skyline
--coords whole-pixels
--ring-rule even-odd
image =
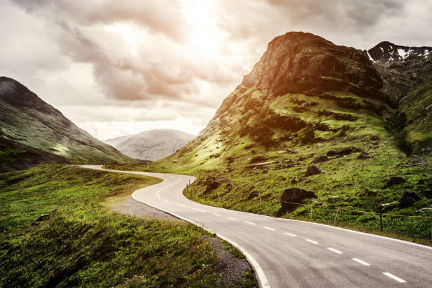
[[[368,50],[368,56],[374,63],[389,61],[409,62],[413,60],[430,59],[432,47],[408,47],[383,41]]]

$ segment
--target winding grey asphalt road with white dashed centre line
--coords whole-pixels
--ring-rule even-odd
[[[261,287],[432,287],[432,247],[202,205],[181,193],[195,179],[192,176],[124,173],[163,179],[160,184],[135,191],[133,198],[198,224],[240,247],[256,270]]]

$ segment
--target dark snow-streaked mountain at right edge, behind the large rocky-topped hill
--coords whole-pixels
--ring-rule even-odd
[[[397,106],[390,130],[412,152],[430,152],[432,141],[432,47],[380,42],[368,50],[381,78],[383,92]]]

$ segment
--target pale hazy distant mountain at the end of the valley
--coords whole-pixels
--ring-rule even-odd
[[[160,160],[184,147],[195,136],[172,129],[144,131],[131,136],[104,140],[124,155],[140,160]]]

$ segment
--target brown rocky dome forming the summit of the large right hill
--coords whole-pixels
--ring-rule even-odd
[[[275,37],[242,84],[274,92],[325,91],[330,87],[367,91],[383,85],[365,52],[304,32]]]

